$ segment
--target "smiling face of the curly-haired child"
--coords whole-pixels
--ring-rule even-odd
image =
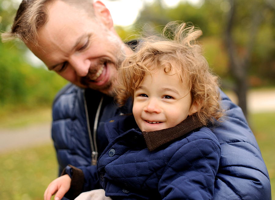
[[[197,106],[191,105],[186,84],[181,82],[178,74],[170,75],[163,70],[154,71],[152,77],[146,73],[143,83],[135,91],[133,114],[141,131],[174,127],[196,113]]]

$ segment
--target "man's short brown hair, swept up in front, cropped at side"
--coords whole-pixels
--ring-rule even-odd
[[[38,31],[48,20],[47,5],[57,0],[23,0],[19,5],[13,25],[2,34],[2,40],[19,38],[25,44],[37,45]],[[94,17],[93,0],[60,0],[75,8],[84,9]]]

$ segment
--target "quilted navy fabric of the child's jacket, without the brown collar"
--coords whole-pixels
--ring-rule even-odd
[[[204,129],[208,130],[207,128]],[[167,186],[167,188],[173,187],[173,190],[177,191],[176,193],[183,193],[184,196],[190,196],[190,198],[194,193],[199,196],[205,191],[212,194],[215,173],[218,170],[220,149],[215,135],[210,131],[209,133],[200,131],[190,134],[187,138],[183,137],[182,140],[172,143],[163,150],[153,152],[149,152],[147,148],[137,149],[137,151],[131,150],[132,144],[127,145],[124,141],[127,141],[127,138],[133,134],[133,130],[123,134],[119,140],[113,141],[108,146],[108,149],[115,149],[116,155],[110,158],[105,153],[100,158],[98,170],[100,173],[106,172],[104,176],[105,181],[107,181],[105,185],[108,185],[108,188],[105,188],[106,192],[114,195],[116,192],[119,193],[118,188],[123,188],[124,184],[127,184],[132,190],[138,190],[139,192],[161,190],[163,197],[169,194],[169,192],[167,193]],[[142,135],[140,134],[139,137],[142,137]],[[202,151],[206,143],[211,148]],[[202,147],[202,145],[204,146]],[[195,160],[194,155],[196,155]],[[216,157],[216,162],[213,162],[213,160],[210,162],[208,157]],[[200,161],[196,158],[199,158]],[[203,165],[206,168],[198,170],[197,165],[200,166],[202,160],[204,160]],[[186,166],[182,167],[182,163],[185,163]],[[215,166],[214,169],[212,169],[212,166]],[[202,167],[204,168],[204,166]],[[182,168],[186,171],[182,172]],[[167,174],[170,173],[173,176],[172,179],[167,178]],[[205,174],[212,174],[213,180],[211,181],[209,177],[205,178]],[[184,182],[193,179],[200,180],[204,186],[192,191],[185,190],[184,187],[178,187],[176,183],[173,183],[173,181],[178,181],[177,178]],[[116,186],[112,188],[114,181]],[[205,198],[205,195],[202,195],[202,197]],[[209,198],[211,198],[211,195]]]

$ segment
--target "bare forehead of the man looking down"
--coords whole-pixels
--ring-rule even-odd
[[[68,55],[83,38],[92,34],[88,33],[91,31],[88,28],[95,20],[61,1],[53,2],[48,8],[49,18],[38,31],[38,44],[26,45],[47,66],[51,66],[58,64],[53,61],[55,58]]]

